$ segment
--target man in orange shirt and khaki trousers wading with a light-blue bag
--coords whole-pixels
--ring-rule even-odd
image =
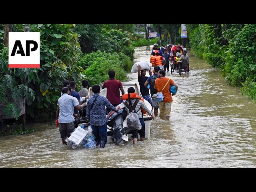
[[[165,71],[159,70],[158,78],[155,81],[155,89],[157,89],[158,92],[162,91],[162,94],[164,95],[164,100],[162,102],[159,102],[159,110],[160,110],[160,119],[163,119],[166,121],[169,121],[170,119],[172,96],[175,95],[175,94],[171,95],[170,86],[174,85],[176,87],[176,90],[178,91],[178,86],[174,83],[174,81],[172,79],[170,79],[169,81],[168,80],[169,78],[165,77]],[[163,88],[164,90],[162,90]]]

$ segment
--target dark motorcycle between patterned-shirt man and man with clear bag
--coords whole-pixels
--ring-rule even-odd
[[[108,136],[111,136],[112,141],[116,139],[116,144],[120,145],[125,141],[128,141],[128,132],[130,129],[123,126],[123,122],[126,119],[127,111],[123,103],[119,104],[116,107],[120,107],[117,112],[110,111],[107,116],[107,125],[111,128],[108,132]]]

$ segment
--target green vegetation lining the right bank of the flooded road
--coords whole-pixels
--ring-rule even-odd
[[[256,24],[188,25],[192,50],[256,102]]]

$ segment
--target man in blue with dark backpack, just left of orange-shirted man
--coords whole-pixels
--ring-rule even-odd
[[[158,78],[158,71],[160,70],[159,66],[155,66],[154,67],[154,71],[155,73],[153,75],[151,75],[146,82],[144,83],[144,86],[147,87],[148,84],[150,84],[150,94],[151,97],[157,93],[157,90],[155,89],[155,80],[156,78]],[[158,109],[159,109],[159,104],[158,102],[154,102],[152,100],[152,104],[153,104],[153,108],[154,108],[154,115],[157,117],[158,116]]]

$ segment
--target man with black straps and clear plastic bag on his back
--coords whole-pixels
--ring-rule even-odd
[[[128,88],[127,92],[128,92],[128,94],[135,93],[135,89],[133,87],[130,87],[130,88]],[[130,102],[129,102],[129,100],[130,100]],[[130,130],[129,133],[132,133],[133,144],[136,144],[137,140],[138,140],[138,134],[140,134],[141,141],[144,141],[146,139],[145,138],[146,137],[145,122],[144,122],[140,107],[142,107],[148,113],[148,115],[152,116],[153,119],[155,119],[155,117],[154,117],[154,114],[152,114],[152,112],[146,107],[144,102],[142,102],[142,100],[137,99],[137,98],[128,99],[124,102],[124,104],[125,104],[124,106],[125,106],[128,114],[130,114],[130,109],[132,107],[134,107],[134,103],[136,104],[136,107],[135,107],[135,110],[133,110],[132,112],[135,112],[138,115],[138,118],[140,119],[141,129],[140,130],[138,130],[138,129]],[[129,106],[130,109],[127,106]]]

